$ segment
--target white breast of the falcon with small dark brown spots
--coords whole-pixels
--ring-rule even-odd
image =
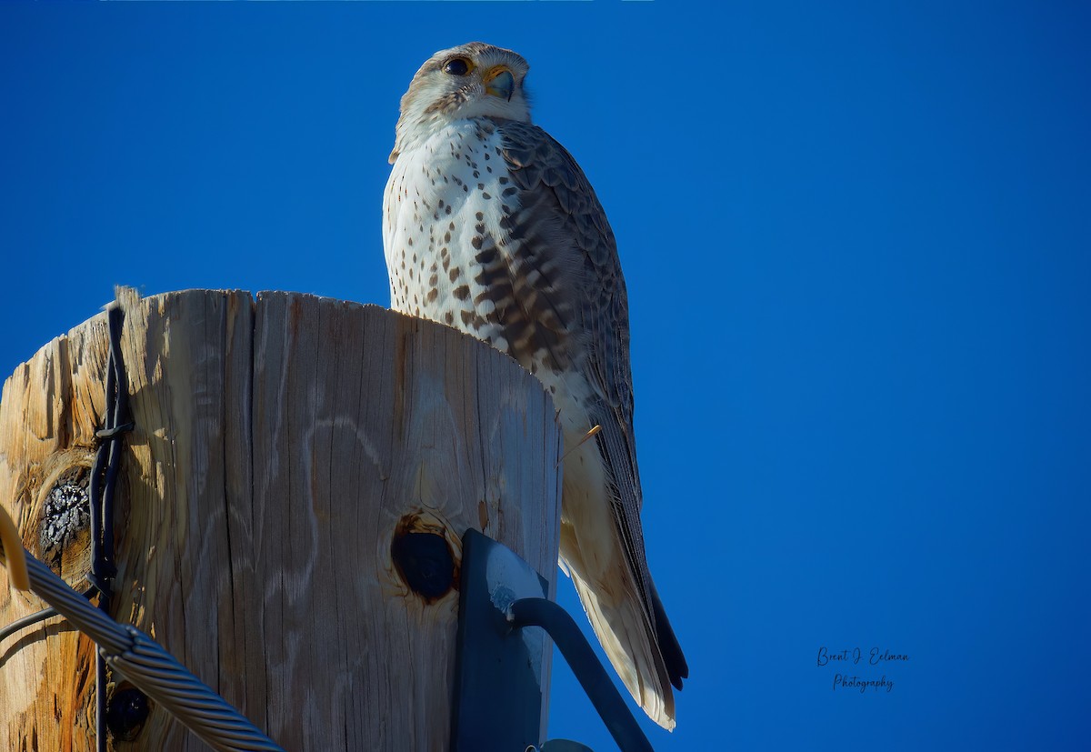
[[[489,130],[460,120],[399,154],[383,199],[391,307],[485,341],[495,333],[473,331],[466,322],[476,308],[487,314],[482,307],[492,306],[473,302],[482,291],[475,279],[480,273],[475,238],[483,226],[505,244],[501,218],[516,206],[500,134]],[[505,349],[502,342],[493,344]]]

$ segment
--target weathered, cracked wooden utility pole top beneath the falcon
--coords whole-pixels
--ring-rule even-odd
[[[445,750],[463,533],[555,586],[561,439],[539,383],[373,306],[119,296],[135,428],[111,616],[287,750]],[[20,366],[0,402],[0,504],[81,590],[107,354],[101,314]],[[0,587],[0,628],[41,606]],[[93,644],[59,618],[5,638],[0,749],[93,750],[94,676]],[[111,749],[205,749],[161,707],[141,721],[121,677],[109,697]]]

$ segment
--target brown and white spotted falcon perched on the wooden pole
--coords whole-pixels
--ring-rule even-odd
[[[622,682],[672,729],[688,667],[645,557],[625,282],[583,170],[530,122],[528,68],[473,41],[412,77],[383,199],[391,306],[489,343],[552,395],[561,566]]]

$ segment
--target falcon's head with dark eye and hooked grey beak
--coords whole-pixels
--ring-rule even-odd
[[[391,164],[399,152],[455,120],[489,117],[530,122],[523,89],[529,69],[512,50],[481,41],[433,55],[401,97]]]

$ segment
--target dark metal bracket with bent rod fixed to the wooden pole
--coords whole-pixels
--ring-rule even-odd
[[[549,583],[511,549],[463,536],[451,750],[538,749],[542,655],[555,642],[622,752],[651,752],[628,706],[579,626],[546,598]],[[528,628],[541,628],[528,629]],[[544,750],[584,749],[554,740]]]

